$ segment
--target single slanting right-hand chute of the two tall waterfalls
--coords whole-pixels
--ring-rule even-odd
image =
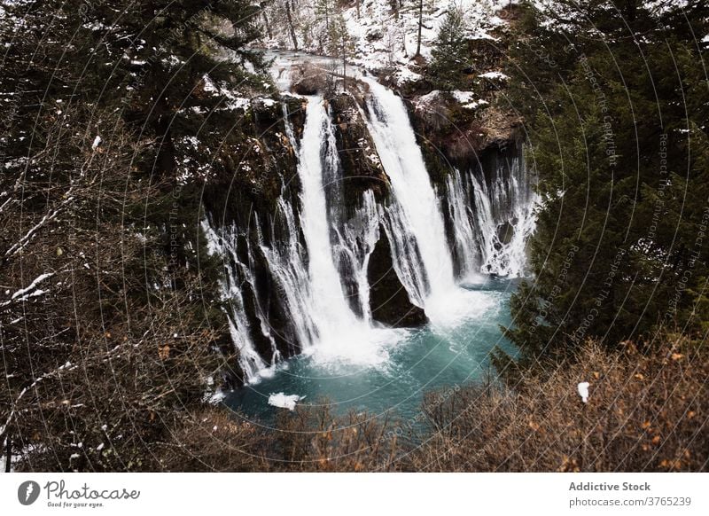
[[[389,211],[391,236],[397,242],[395,261],[404,271],[402,281],[413,293],[412,301],[428,309],[432,300],[440,299],[455,285],[440,205],[403,101],[374,79],[363,80],[371,92],[370,134],[392,183],[394,200]],[[414,239],[423,274],[409,272],[419,261],[410,245]],[[424,276],[427,284],[423,283]]]

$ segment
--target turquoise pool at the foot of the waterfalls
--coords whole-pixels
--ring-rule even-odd
[[[490,351],[500,346],[514,354],[500,324],[510,324],[510,294],[517,280],[479,278],[462,288],[470,294],[467,317],[452,326],[428,324],[405,330],[390,342],[386,360],[366,366],[292,357],[266,378],[228,393],[230,408],[262,424],[271,424],[278,410],[269,396],[297,395],[300,405],[330,403],[339,414],[367,410],[378,417],[410,419],[420,410],[426,392],[480,379],[491,367]]]

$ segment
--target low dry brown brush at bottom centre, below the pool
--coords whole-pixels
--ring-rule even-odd
[[[269,428],[218,407],[195,413],[155,448],[160,471],[357,472],[392,464],[386,422],[362,413],[335,417],[328,403],[283,410]]]

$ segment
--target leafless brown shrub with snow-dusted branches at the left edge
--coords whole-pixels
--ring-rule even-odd
[[[146,144],[99,116],[73,130],[49,120],[43,145],[0,178],[12,193],[0,209],[0,442],[18,470],[144,469],[224,365],[219,319],[197,295],[209,280],[144,215],[171,200],[136,173]]]

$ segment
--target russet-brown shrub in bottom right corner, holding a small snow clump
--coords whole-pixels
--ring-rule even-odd
[[[416,471],[705,471],[704,349],[688,340],[608,355],[593,343],[513,389],[488,382],[425,403]],[[590,382],[588,403],[576,392]]]

